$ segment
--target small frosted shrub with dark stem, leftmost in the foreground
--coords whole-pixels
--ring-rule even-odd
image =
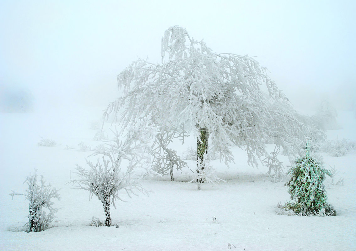
[[[46,185],[43,176],[41,176],[40,183],[37,181],[37,170],[34,175],[27,176],[25,182],[28,185],[26,193],[15,193],[12,191],[10,196],[12,199],[14,195],[23,195],[30,201],[30,214],[28,215],[28,232],[40,232],[51,227],[54,220],[54,213],[58,209],[53,208],[51,199],[56,198],[59,200],[58,190],[52,188],[51,184]],[[24,183],[25,183],[24,182]],[[43,210],[48,209],[48,212]],[[26,225],[27,225],[26,224]]]

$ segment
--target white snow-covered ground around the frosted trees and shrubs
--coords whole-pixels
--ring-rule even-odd
[[[91,113],[76,110],[0,114],[0,250],[356,250],[355,151],[343,157],[321,153],[326,167],[335,165],[339,170],[335,180],[344,178],[344,185],[331,184],[329,177],[325,181],[328,202],[338,213],[335,217],[277,215],[277,203],[289,200],[283,186],[287,179],[271,182],[267,167],[248,166],[246,153],[236,148],[236,163],[230,168],[219,160],[211,162],[226,183],[204,184],[197,191],[196,183],[186,182],[188,169],[183,170],[186,176],[175,173],[174,182],[169,175],[142,180],[151,191],[149,197],[129,198],[122,191],[127,202],[117,201],[116,210],[111,206],[112,223],[119,228],[90,226],[93,216],[105,220],[101,202],[96,197],[89,201],[89,192],[66,183],[75,164],[87,167],[85,157],[90,151],[80,151],[78,144],[84,142],[91,148],[101,144],[93,141],[92,119]],[[343,128],[328,131],[329,139],[356,140],[354,114],[342,113],[339,123]],[[56,146],[38,146],[41,137],[56,141]],[[195,148],[195,142],[176,144],[176,150]],[[287,170],[288,160],[282,159]],[[189,165],[194,169],[195,162]],[[11,200],[9,193],[25,192],[23,181],[34,168],[61,189],[61,200],[54,200],[54,207],[60,209],[55,227],[26,233],[28,201],[23,196]]]

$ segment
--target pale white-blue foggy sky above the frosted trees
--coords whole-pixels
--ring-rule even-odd
[[[0,1],[0,85],[37,105],[105,106],[173,25],[216,53],[256,56],[295,108],[356,96],[355,1]],[[105,107],[103,107],[105,108]]]

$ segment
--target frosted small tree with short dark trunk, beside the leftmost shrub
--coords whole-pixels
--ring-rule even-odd
[[[134,171],[138,167],[147,169],[150,166],[150,155],[145,151],[148,148],[149,139],[157,134],[157,129],[147,124],[147,119],[141,119],[137,123],[130,123],[127,128],[126,139],[120,139],[120,133],[112,130],[115,139],[94,149],[93,155],[101,157],[94,164],[87,160],[89,170],[77,165],[75,172],[77,179],[72,179],[75,188],[84,189],[95,195],[103,204],[105,213],[105,226],[111,226],[110,204],[114,206],[115,200],[123,201],[119,197],[119,191],[124,189],[131,198],[135,191],[147,194],[141,183],[134,178]],[[125,161],[127,168],[122,168]],[[150,173],[150,170],[146,170]],[[90,197],[90,198],[91,198]]]

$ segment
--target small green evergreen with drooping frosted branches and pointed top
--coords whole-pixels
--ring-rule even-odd
[[[291,174],[291,178],[284,185],[288,187],[290,198],[297,199],[298,204],[291,207],[295,213],[336,215],[334,208],[327,203],[328,197],[323,185],[325,175],[331,177],[333,174],[324,169],[320,158],[312,152],[310,138],[307,138],[305,140],[305,156],[295,160],[294,165],[287,173]]]

